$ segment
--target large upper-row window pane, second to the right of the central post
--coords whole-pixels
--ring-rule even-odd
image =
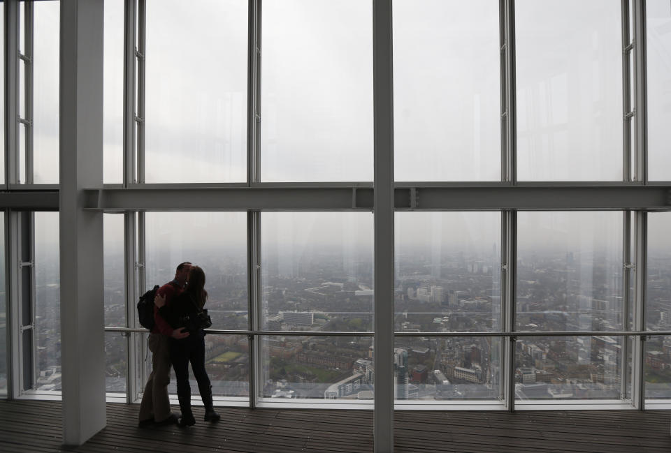
[[[517,177],[622,179],[621,2],[515,2]]]

